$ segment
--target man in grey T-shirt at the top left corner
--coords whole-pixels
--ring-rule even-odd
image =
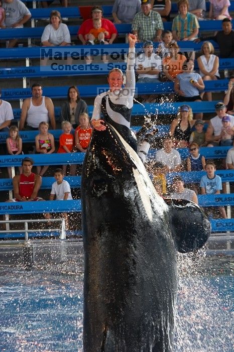
[[[6,28],[23,28],[24,24],[31,18],[31,12],[20,0],[4,0]],[[9,41],[8,48],[13,48],[17,44],[17,39]]]

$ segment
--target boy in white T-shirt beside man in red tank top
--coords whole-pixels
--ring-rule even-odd
[[[56,181],[52,184],[49,200],[54,200],[55,198],[56,200],[73,199],[71,195],[71,187],[69,183],[66,180],[64,180],[63,169],[56,169],[54,172],[54,178]],[[66,228],[69,228],[68,214],[63,212],[62,216],[65,219]],[[45,213],[45,217],[47,219],[50,219],[51,218],[50,213]]]

